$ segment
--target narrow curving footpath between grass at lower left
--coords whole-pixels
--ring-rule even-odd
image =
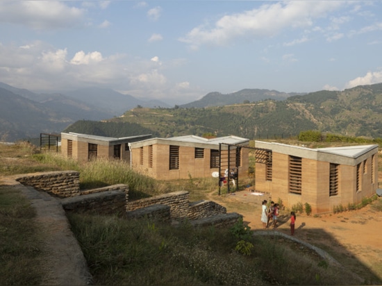
[[[12,177],[3,185],[19,190],[36,210],[36,221],[45,238],[41,265],[42,285],[92,285],[92,276],[60,201],[46,192],[24,186]]]

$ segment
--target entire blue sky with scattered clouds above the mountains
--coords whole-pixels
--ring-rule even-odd
[[[177,103],[381,83],[382,1],[1,0],[0,82]]]

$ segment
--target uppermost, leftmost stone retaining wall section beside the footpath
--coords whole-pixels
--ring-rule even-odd
[[[25,174],[15,178],[23,185],[30,185],[36,190],[48,192],[66,198],[78,196],[80,192],[80,174],[78,171],[49,171],[37,174]]]

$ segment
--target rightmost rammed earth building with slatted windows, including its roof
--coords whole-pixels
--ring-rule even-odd
[[[378,145],[310,149],[256,141],[256,190],[312,213],[348,207],[376,194]]]

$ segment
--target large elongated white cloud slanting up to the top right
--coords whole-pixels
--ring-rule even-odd
[[[254,40],[273,37],[290,28],[313,26],[313,20],[325,17],[344,5],[344,1],[285,1],[260,6],[258,9],[245,11],[220,18],[215,26],[197,26],[187,35],[179,38],[192,49],[201,45],[226,45],[235,38],[247,37]]]

